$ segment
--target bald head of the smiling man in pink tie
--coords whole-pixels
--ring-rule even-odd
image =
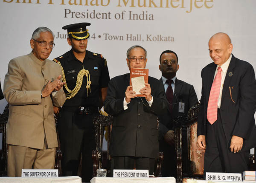
[[[209,54],[218,66],[224,64],[233,50],[230,37],[223,32],[218,32],[209,39]]]

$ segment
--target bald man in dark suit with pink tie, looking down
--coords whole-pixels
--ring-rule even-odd
[[[231,54],[230,37],[222,32],[209,40],[213,62],[201,72],[198,147],[205,149],[206,172],[248,170],[249,150],[256,147],[256,80],[251,64]]]

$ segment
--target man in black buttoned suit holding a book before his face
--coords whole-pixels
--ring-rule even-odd
[[[147,52],[139,45],[127,51],[127,65],[131,68],[145,68]],[[167,112],[167,101],[162,84],[156,78],[148,77],[137,97],[129,86],[130,74],[112,78],[104,102],[105,111],[113,115],[111,131],[111,171],[113,169],[148,169],[154,172],[158,157],[157,115]]]

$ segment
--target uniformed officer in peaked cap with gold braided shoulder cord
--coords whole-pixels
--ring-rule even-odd
[[[81,177],[90,182],[93,176],[92,151],[95,149],[93,118],[107,95],[110,80],[107,61],[102,55],[88,51],[90,23],[75,23],[62,27],[67,30],[67,42],[72,49],[55,58],[62,68],[64,103],[58,117],[58,131],[64,176],[76,176],[82,156]],[[58,112],[58,108],[55,108]]]

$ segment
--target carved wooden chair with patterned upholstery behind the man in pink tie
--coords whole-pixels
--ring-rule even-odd
[[[200,101],[193,106],[186,119],[178,117],[175,123],[175,149],[177,151],[177,180],[176,182],[186,182],[187,178],[203,179],[204,175],[204,150],[197,147],[197,119]],[[183,144],[183,129],[187,131],[187,144]],[[185,146],[185,147],[184,147]],[[184,149],[186,149],[184,151]],[[254,154],[256,148],[254,148]],[[255,170],[255,155],[250,154],[249,167]]]

